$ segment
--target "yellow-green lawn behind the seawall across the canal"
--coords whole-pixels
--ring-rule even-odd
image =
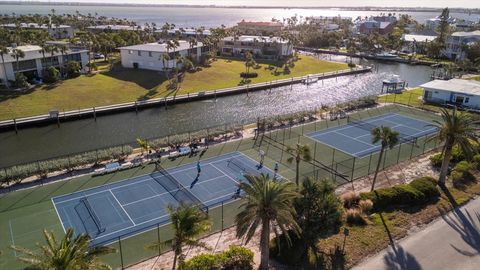
[[[260,68],[255,70],[259,76],[252,79],[251,83],[341,70],[346,69],[347,65],[300,56],[290,74],[274,75],[266,67],[266,64],[261,64]],[[278,70],[282,71],[281,68]],[[180,89],[172,91],[168,90],[169,82],[158,72],[122,68],[112,71],[102,69],[96,75],[80,76],[56,85],[45,85],[22,95],[1,94],[0,120],[46,114],[52,109],[69,111],[233,87],[239,85],[242,71],[245,71],[243,61],[220,59],[201,71],[186,73]]]

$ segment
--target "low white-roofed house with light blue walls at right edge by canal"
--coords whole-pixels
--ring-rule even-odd
[[[478,81],[434,80],[422,84],[421,87],[424,89],[423,100],[426,102],[480,109],[480,82]]]

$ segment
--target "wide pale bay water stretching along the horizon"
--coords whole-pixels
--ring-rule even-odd
[[[344,11],[336,9],[242,9],[242,8],[184,8],[184,7],[115,7],[115,6],[49,6],[49,5],[0,5],[3,14],[48,14],[54,8],[57,14],[74,14],[78,10],[82,14],[95,14],[107,17],[126,18],[139,24],[155,22],[161,25],[165,22],[174,23],[179,27],[205,26],[216,27],[222,24],[233,26],[242,19],[270,21],[272,18],[283,19],[294,16],[346,16],[357,18],[385,13],[380,11]],[[409,12],[419,22],[433,18],[440,12]],[[480,20],[479,14],[451,13],[453,17]]]

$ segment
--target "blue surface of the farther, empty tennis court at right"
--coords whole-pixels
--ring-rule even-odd
[[[307,134],[307,137],[351,156],[364,157],[380,151],[379,143],[372,144],[371,129],[373,127],[388,126],[398,131],[400,142],[412,141],[437,132],[435,127],[428,126],[431,124],[429,122],[395,113],[382,114],[361,121],[363,124],[352,122],[312,132]]]

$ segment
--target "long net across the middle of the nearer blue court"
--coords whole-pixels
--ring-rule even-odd
[[[183,201],[197,205],[204,212],[208,212],[208,207],[200,201],[193,193],[188,191],[180,182],[165,170],[159,162],[155,163],[157,170],[164,177],[156,177],[155,173],[151,177],[155,179],[165,190],[167,190],[177,201]]]

